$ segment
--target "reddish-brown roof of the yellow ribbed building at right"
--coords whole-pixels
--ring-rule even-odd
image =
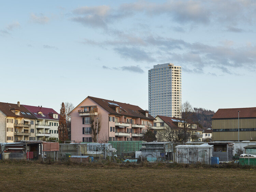
[[[212,119],[231,119],[231,118],[253,118],[256,117],[256,107],[249,108],[231,108],[231,109],[218,109]]]

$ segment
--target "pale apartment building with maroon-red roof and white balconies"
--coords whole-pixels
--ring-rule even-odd
[[[54,137],[58,141],[59,114],[52,108],[30,105],[23,106],[37,118],[35,122],[36,140],[47,141],[50,137]]]

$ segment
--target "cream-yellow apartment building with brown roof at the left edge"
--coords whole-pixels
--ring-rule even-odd
[[[35,140],[35,117],[23,105],[0,102],[0,143]]]

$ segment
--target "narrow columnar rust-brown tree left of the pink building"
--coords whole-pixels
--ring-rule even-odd
[[[59,141],[63,143],[68,140],[68,129],[66,122],[65,105],[62,102],[59,114],[59,127],[58,127]]]

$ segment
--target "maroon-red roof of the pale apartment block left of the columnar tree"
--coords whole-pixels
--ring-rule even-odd
[[[23,105],[23,106],[27,108],[38,119],[59,120],[59,114],[52,108],[37,107],[37,106],[30,106],[30,105]],[[39,112],[42,112],[44,117],[41,116]],[[58,114],[58,119],[54,119],[53,116],[51,116],[51,114]]]

